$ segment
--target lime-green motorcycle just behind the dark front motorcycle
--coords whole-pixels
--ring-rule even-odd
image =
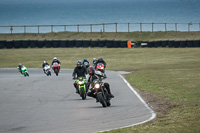
[[[78,77],[76,80],[76,84],[78,87],[77,89],[78,89],[80,97],[82,97],[82,99],[85,100],[87,96],[86,78]]]

